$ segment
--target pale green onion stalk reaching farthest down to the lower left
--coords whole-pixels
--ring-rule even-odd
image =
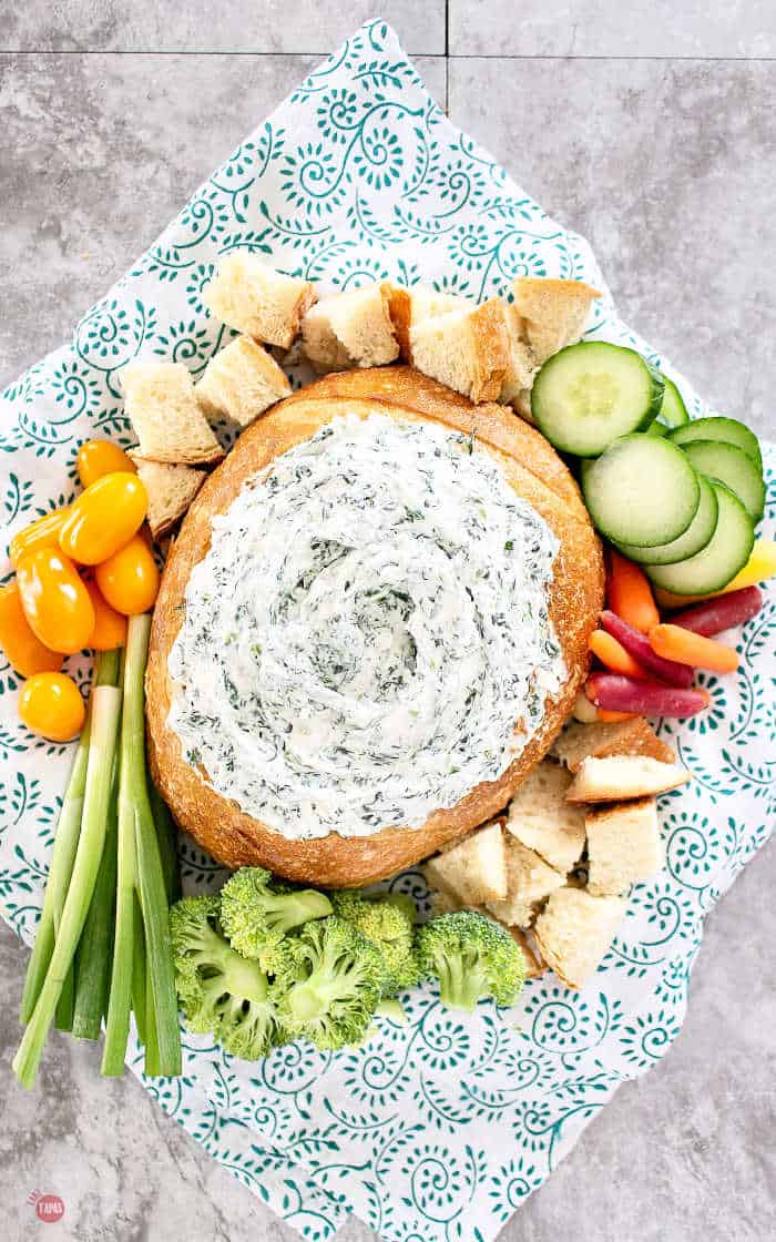
[[[67,972],[76,956],[78,940],[89,909],[99,861],[106,841],[113,760],[122,709],[122,692],[113,686],[96,686],[92,692],[92,718],[81,836],[70,876],[70,886],[58,934],[48,969],[40,987],[27,1028],[14,1057],[14,1071],[24,1087],[32,1087],[43,1043],[60,1000]]]

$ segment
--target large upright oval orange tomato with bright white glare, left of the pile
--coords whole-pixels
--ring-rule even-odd
[[[76,566],[56,548],[22,556],[16,570],[30,628],[45,647],[72,656],[88,647],[94,609]]]

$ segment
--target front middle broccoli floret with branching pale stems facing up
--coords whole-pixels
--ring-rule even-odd
[[[273,995],[283,1026],[317,1048],[344,1048],[369,1030],[385,966],[371,940],[344,919],[308,923],[287,941]]]

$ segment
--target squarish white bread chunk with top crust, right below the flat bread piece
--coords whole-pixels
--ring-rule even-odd
[[[631,884],[649,879],[665,863],[653,797],[591,809],[585,827],[587,888],[593,897],[627,893]]]

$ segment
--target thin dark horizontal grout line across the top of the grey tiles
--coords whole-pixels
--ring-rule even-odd
[[[446,29],[447,45],[447,29]],[[305,60],[309,57],[327,57],[332,55],[332,48],[319,51],[293,51],[293,52],[268,52],[245,51],[241,48],[223,48],[222,51],[207,51],[205,48],[51,48],[51,47],[0,47],[0,56],[253,56],[273,57],[274,60]],[[669,63],[689,65],[772,65],[775,56],[605,56],[579,53],[531,53],[531,52],[407,52],[411,60],[426,61],[662,61]]]

